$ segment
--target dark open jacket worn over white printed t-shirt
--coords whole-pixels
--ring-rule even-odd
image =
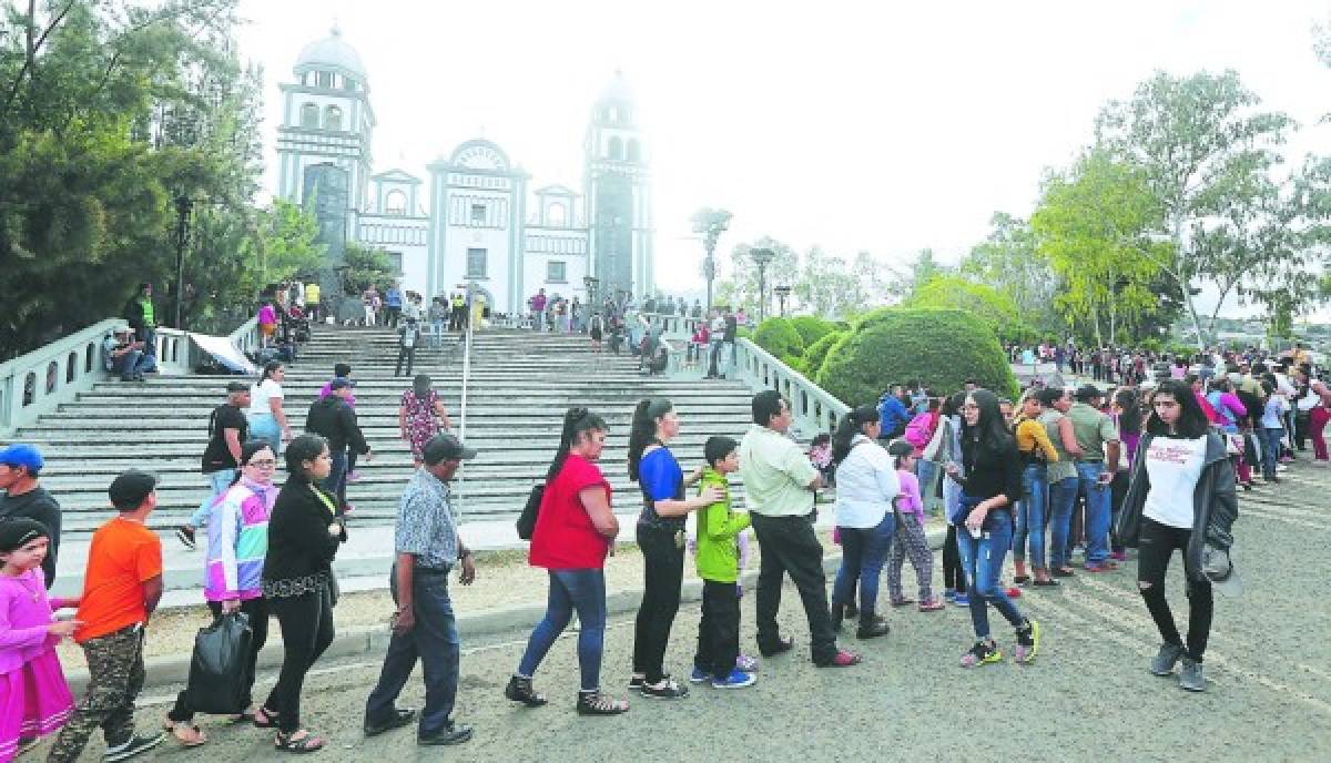
[[[1123,509],[1118,515],[1118,537],[1125,546],[1134,549],[1141,531],[1146,494],[1151,489],[1150,478],[1146,474],[1146,451],[1154,438],[1153,434],[1142,434],[1142,441],[1137,445],[1137,457],[1133,459],[1133,470],[1129,473],[1127,495],[1123,497]],[[1234,535],[1230,534],[1230,530],[1238,517],[1239,503],[1234,489],[1234,465],[1225,451],[1223,435],[1213,430],[1206,437],[1202,477],[1197,481],[1197,490],[1193,493],[1193,534],[1187,539],[1186,550],[1187,569],[1198,582],[1206,581],[1206,577],[1202,575],[1203,546],[1209,543],[1227,551],[1234,545]]]

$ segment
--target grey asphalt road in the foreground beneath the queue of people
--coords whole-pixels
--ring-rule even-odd
[[[329,738],[315,760],[1331,760],[1331,642],[1324,581],[1331,471],[1295,466],[1280,486],[1242,497],[1236,561],[1247,591],[1217,595],[1206,666],[1210,686],[1197,695],[1146,664],[1158,635],[1135,593],[1135,562],[1118,573],[1081,574],[1061,589],[1029,590],[1018,606],[1044,626],[1034,664],[1010,662],[1012,634],[994,614],[1009,652],[1002,664],[966,670],[972,643],[964,609],[889,613],[892,635],[844,643],[864,654],[857,667],[816,668],[808,660],[803,611],[793,589],[781,621],[799,644],[763,660],[759,683],[737,691],[693,687],[666,702],[631,698],[618,718],[574,712],[574,642],[559,642],[536,678],[552,699],[538,710],[502,698],[526,633],[488,640],[463,635],[458,718],[475,727],[459,747],[418,748],[403,728],[374,739],[361,734],[365,696],[378,660],[327,663],[306,683],[306,724]],[[1169,593],[1186,618],[1182,565]],[[909,569],[908,569],[909,575]],[[936,573],[937,577],[937,573]],[[484,585],[479,579],[476,585]],[[744,640],[753,650],[752,597],[744,602]],[[680,613],[668,664],[688,671],[696,605]],[[611,623],[603,682],[626,695],[632,619]],[[272,676],[261,679],[265,684]],[[260,692],[257,692],[260,694]],[[261,694],[260,694],[261,695]],[[403,704],[419,704],[419,682]],[[148,696],[140,723],[160,723],[165,696]],[[272,760],[272,736],[204,718],[212,742],[185,751],[168,740],[145,758]],[[100,742],[85,755],[100,754]]]

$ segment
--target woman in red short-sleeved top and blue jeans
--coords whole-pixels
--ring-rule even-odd
[[[546,617],[531,631],[527,651],[504,688],[504,696],[527,707],[546,704],[546,698],[531,688],[531,676],[576,610],[579,715],[618,715],[628,710],[628,702],[600,691],[606,555],[619,534],[619,522],[610,509],[610,482],[596,466],[607,431],[604,419],[586,407],[568,409],[559,450],[546,477],[527,562],[548,570],[550,598]]]

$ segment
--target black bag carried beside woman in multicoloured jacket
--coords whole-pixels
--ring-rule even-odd
[[[185,692],[194,712],[237,715],[245,711],[245,658],[254,631],[249,615],[224,614],[194,636],[194,655],[189,660],[189,684]]]

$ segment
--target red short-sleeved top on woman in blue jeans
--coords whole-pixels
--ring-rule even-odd
[[[563,469],[546,485],[531,534],[527,561],[547,570],[599,570],[606,566],[611,539],[596,531],[579,498],[584,487],[600,487],[610,501],[610,482],[595,463],[570,454]]]

